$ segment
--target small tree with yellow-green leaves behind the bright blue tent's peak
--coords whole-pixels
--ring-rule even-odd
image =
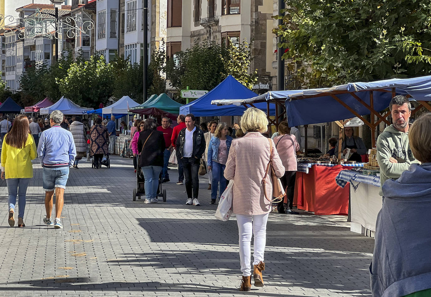
[[[242,43],[234,45],[229,39],[229,45],[226,50],[227,55],[222,57],[224,65],[222,79],[225,79],[230,74],[241,84],[253,90],[253,85],[257,82],[257,69],[249,74],[253,57],[248,43],[244,40]]]

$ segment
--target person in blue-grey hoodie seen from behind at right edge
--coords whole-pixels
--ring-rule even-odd
[[[369,267],[373,297],[431,296],[431,113],[414,122],[409,140],[422,164],[382,187]]]

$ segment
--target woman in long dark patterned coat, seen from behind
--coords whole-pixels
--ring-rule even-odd
[[[102,119],[97,118],[90,129],[90,154],[94,158],[94,165],[98,169],[103,155],[108,155],[108,129],[102,125]]]

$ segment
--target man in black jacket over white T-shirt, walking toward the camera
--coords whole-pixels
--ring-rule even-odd
[[[196,118],[193,114],[185,117],[186,127],[178,134],[176,148],[178,162],[182,162],[186,181],[187,205],[199,206],[199,165],[200,158],[205,152],[203,132],[194,125]],[[193,196],[192,196],[193,190]]]

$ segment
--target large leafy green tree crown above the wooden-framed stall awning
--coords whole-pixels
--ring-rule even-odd
[[[426,75],[431,3],[426,0],[292,0],[274,30],[302,87]],[[424,52],[426,52],[424,54]]]

